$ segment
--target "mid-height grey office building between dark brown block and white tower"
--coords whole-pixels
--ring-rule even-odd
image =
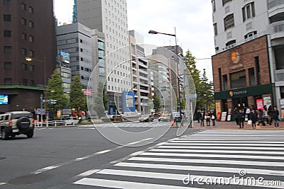
[[[79,75],[81,84],[87,89],[92,74],[91,29],[81,23],[60,25],[56,30],[57,47],[70,55],[72,77]]]

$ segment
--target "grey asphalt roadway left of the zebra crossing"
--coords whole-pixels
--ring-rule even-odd
[[[20,135],[0,141],[0,188],[89,188],[74,183],[177,137],[178,128],[167,125],[131,122],[115,125],[119,130],[114,125],[40,128],[32,139]],[[185,134],[193,132],[198,130]]]

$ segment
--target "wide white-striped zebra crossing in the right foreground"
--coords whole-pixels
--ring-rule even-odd
[[[75,185],[94,188],[284,188],[284,131],[205,130],[164,142]]]

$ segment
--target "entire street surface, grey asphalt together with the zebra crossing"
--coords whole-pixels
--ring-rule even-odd
[[[142,132],[166,125],[115,126]],[[283,130],[187,130],[176,137],[172,127],[156,142],[143,146],[148,138],[136,139],[128,144],[141,147],[126,147],[97,129],[38,128],[32,139],[1,141],[1,188],[284,187]]]

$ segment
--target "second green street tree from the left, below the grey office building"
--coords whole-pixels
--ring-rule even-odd
[[[76,111],[87,109],[87,98],[84,95],[80,76],[75,76],[71,83],[70,106],[71,108],[75,108]]]

